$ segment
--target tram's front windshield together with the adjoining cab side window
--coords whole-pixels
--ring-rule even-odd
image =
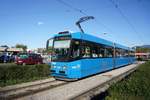
[[[54,39],[52,61],[72,61],[80,57],[80,42],[74,39]]]

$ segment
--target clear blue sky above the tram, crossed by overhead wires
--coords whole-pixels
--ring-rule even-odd
[[[58,32],[80,31],[80,11],[95,17],[82,23],[88,34],[129,47],[150,44],[150,0],[0,0],[0,45],[45,48]]]

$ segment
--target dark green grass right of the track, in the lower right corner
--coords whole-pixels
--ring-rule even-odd
[[[108,89],[106,100],[150,100],[150,61]]]

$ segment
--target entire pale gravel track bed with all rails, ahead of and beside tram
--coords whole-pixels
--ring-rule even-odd
[[[45,81],[44,83],[41,82],[41,84],[36,83],[36,85],[20,86],[16,88],[16,90],[15,88],[1,89],[0,99],[60,100],[61,98],[61,100],[88,100],[95,95],[106,91],[110,85],[131,74],[142,63],[143,62],[138,62],[75,82],[52,79],[50,82]]]

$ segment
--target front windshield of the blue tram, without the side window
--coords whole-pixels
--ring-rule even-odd
[[[54,41],[54,54],[52,61],[67,61],[69,58],[71,40]]]

